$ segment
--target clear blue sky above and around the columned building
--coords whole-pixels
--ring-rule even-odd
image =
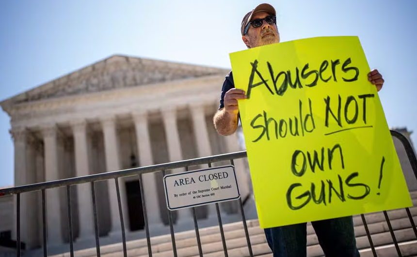
[[[1,0],[0,99],[114,54],[230,68],[245,49],[250,0]],[[379,93],[390,127],[415,131],[417,1],[272,0],[282,41],[355,35],[369,66],[385,78]],[[219,85],[220,91],[221,85]],[[0,113],[0,187],[12,185],[9,117]]]

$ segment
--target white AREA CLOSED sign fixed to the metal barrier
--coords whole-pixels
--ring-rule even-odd
[[[163,181],[166,204],[171,211],[240,197],[232,165],[168,174]]]

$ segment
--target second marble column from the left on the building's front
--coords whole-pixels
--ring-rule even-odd
[[[57,131],[55,126],[48,126],[42,130],[45,147],[45,181],[59,180]],[[47,189],[46,212],[48,227],[48,243],[62,244],[62,227],[60,212],[59,188]]]

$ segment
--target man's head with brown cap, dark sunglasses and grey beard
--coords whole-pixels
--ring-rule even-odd
[[[279,43],[275,9],[267,3],[259,4],[243,17],[241,34],[248,48]]]

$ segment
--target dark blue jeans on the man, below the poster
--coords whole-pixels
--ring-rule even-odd
[[[311,222],[326,257],[360,257],[352,216]],[[307,224],[265,229],[273,257],[306,257]]]

